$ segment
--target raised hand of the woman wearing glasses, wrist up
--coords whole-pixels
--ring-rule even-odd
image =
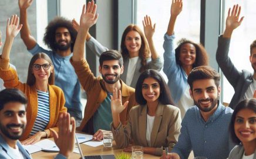
[[[14,38],[21,30],[22,25],[19,25],[19,17],[12,15],[11,19],[8,18],[6,25],[6,38]]]

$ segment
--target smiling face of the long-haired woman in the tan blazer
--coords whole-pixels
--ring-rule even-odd
[[[143,98],[149,102],[158,102],[160,96],[160,85],[154,78],[146,78],[142,84]]]

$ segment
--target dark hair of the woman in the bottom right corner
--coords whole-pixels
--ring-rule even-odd
[[[241,141],[238,139],[238,137],[235,135],[235,116],[237,116],[237,113],[240,112],[242,109],[250,109],[256,113],[256,99],[244,99],[243,101],[239,102],[238,105],[235,107],[235,110],[231,117],[230,122],[230,134],[231,139],[234,141],[235,144],[240,144]]]

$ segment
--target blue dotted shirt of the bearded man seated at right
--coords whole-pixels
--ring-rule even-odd
[[[180,155],[181,159],[188,158],[191,150],[195,157],[227,158],[235,146],[229,137],[232,113],[233,109],[219,104],[214,114],[204,122],[197,106],[188,109],[181,122],[178,143],[171,152]]]

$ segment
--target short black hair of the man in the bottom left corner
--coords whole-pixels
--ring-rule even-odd
[[[4,105],[9,102],[19,102],[26,106],[28,99],[19,89],[6,88],[0,92],[0,110],[4,108]]]

